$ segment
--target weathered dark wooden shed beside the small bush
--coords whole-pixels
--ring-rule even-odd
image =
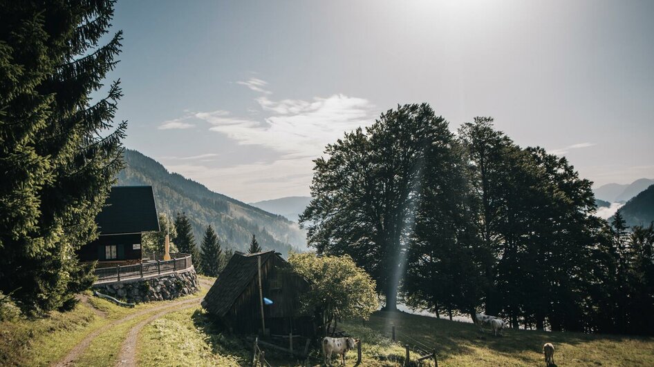
[[[299,312],[299,298],[308,289],[308,281],[274,250],[255,254],[236,252],[207,292],[202,306],[234,333],[261,334],[263,307],[266,335],[292,333],[315,337],[313,317]],[[266,304],[269,302],[263,299],[272,304]]]

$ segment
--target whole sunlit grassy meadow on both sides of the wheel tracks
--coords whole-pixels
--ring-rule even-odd
[[[191,297],[200,297],[199,295]],[[121,308],[104,299],[89,297],[73,312],[53,313],[44,319],[3,321],[0,325],[0,365],[49,366],[64,357],[73,346],[98,328],[142,313],[129,321],[103,330],[77,360],[77,366],[113,366],[129,330],[154,315],[162,302]],[[548,333],[505,330],[494,337],[480,333],[472,324],[434,319],[407,313],[374,313],[368,321],[339,324],[349,335],[362,339],[362,366],[401,366],[405,349],[411,348],[411,366],[425,352],[436,350],[438,366],[545,366],[541,348],[551,342],[556,348],[557,366],[654,366],[654,338],[620,335]],[[398,342],[391,340],[395,326]],[[136,361],[140,366],[247,366],[252,342],[225,335],[199,306],[176,310],[145,326],[138,335]],[[272,366],[300,366],[303,361],[266,349]],[[348,354],[352,366],[356,353]],[[317,348],[310,365],[319,366]],[[432,366],[429,361],[422,366]]]

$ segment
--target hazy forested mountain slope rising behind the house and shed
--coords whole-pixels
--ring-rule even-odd
[[[205,186],[171,173],[160,163],[136,150],[126,150],[127,168],[118,175],[118,184],[151,185],[157,209],[186,212],[193,225],[198,246],[208,224],[212,224],[221,242],[234,250],[246,250],[252,233],[263,250],[288,254],[293,248],[306,248],[306,237],[297,224],[231,197],[212,192]]]

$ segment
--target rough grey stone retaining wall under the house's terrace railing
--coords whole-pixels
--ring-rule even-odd
[[[199,285],[195,268],[191,267],[183,272],[156,277],[128,279],[110,284],[93,284],[93,289],[105,295],[138,304],[191,295],[200,290]]]

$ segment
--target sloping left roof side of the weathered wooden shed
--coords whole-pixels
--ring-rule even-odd
[[[223,317],[256,276],[258,266],[256,258],[261,257],[261,264],[264,264],[273,256],[278,256],[274,250],[254,254],[236,252],[205,295],[203,307],[209,313]]]

